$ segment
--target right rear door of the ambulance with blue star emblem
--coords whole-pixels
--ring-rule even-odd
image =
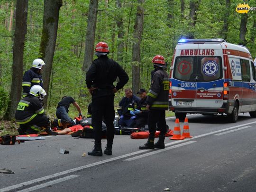
[[[196,107],[220,108],[223,104],[223,53],[220,44],[199,44]]]

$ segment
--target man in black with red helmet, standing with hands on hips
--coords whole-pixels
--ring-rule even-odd
[[[97,59],[92,61],[91,67],[86,73],[86,85],[91,94],[92,126],[94,129],[94,147],[88,155],[102,156],[101,133],[102,118],[107,125],[107,146],[104,154],[112,155],[114,139],[114,96],[128,82],[128,75],[124,69],[114,60],[108,58],[109,46],[105,42],[99,42],[95,48]],[[113,83],[117,77],[119,82]]]

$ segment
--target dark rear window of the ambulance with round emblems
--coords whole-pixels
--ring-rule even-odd
[[[221,57],[176,57],[174,78],[190,82],[209,82],[222,78]]]

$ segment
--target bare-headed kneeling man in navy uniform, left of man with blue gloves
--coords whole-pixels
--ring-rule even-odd
[[[118,114],[119,114],[119,126],[121,127],[133,127],[135,122],[135,115],[132,115],[130,111],[136,109],[140,100],[136,95],[133,95],[130,88],[125,89],[125,97],[119,102]]]

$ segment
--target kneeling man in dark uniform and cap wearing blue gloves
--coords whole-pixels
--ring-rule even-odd
[[[145,125],[147,124],[147,117],[148,117],[148,110],[146,110],[146,98],[147,98],[146,90],[139,89],[137,94],[139,94],[139,97],[140,97],[139,104],[137,105],[137,108],[135,109],[135,111],[130,111],[130,113],[136,116],[136,118],[134,119],[135,124],[133,125],[133,127],[141,128],[141,127],[145,127]]]

